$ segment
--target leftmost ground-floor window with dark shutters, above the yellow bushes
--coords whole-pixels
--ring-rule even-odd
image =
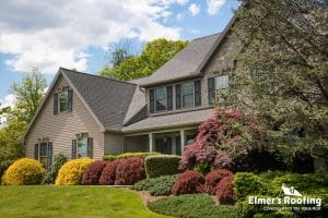
[[[49,170],[52,164],[52,143],[43,142],[35,144],[34,158],[40,161],[40,164],[45,166],[46,170]]]

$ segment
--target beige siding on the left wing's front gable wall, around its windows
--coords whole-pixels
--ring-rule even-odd
[[[71,158],[72,140],[75,138],[75,134],[86,132],[89,137],[93,137],[93,158],[101,159],[104,155],[103,133],[74,90],[73,111],[54,114],[52,96],[62,86],[69,86],[69,84],[60,75],[34,125],[26,135],[26,156],[34,157],[34,144],[38,143],[39,138],[49,138],[52,142],[54,156],[63,153],[65,156]]]

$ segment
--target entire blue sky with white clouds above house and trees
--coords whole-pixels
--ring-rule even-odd
[[[34,66],[48,84],[59,66],[96,73],[107,63],[107,48],[121,39],[138,50],[159,37],[215,34],[238,5],[237,0],[2,0],[0,102],[13,104],[11,84]]]

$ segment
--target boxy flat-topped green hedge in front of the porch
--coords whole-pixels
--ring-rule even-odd
[[[176,155],[155,155],[144,159],[147,178],[157,178],[179,172],[180,157]]]

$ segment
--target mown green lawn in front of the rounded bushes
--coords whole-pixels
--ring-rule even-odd
[[[106,186],[0,186],[0,217],[165,218],[138,193]],[[167,217],[166,217],[167,218]]]

